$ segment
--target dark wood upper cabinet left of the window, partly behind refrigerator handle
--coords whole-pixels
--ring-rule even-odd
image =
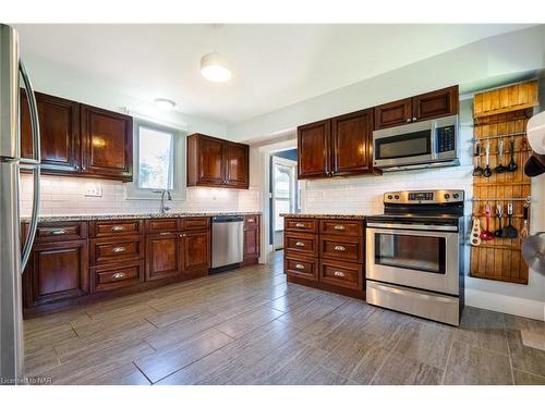
[[[36,92],[44,174],[132,181],[131,116]],[[21,91],[21,153],[33,154],[28,102]]]

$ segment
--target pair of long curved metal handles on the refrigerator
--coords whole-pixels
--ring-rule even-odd
[[[21,76],[23,82],[25,83],[27,100],[28,100],[28,110],[31,113],[31,123],[33,129],[33,158],[32,159],[20,159],[20,168],[28,169],[33,171],[34,178],[34,196],[33,196],[33,212],[31,218],[31,225],[28,227],[28,233],[25,238],[25,245],[23,246],[23,254],[21,259],[21,272],[25,270],[26,263],[28,262],[28,258],[31,257],[31,250],[34,244],[34,236],[36,235],[36,228],[38,226],[38,217],[39,217],[39,182],[40,182],[40,140],[39,140],[39,122],[38,122],[38,109],[36,106],[36,97],[34,95],[34,88],[31,83],[31,78],[26,73],[25,65],[22,61],[19,63],[19,70],[21,71]]]

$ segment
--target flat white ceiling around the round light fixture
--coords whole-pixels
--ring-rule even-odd
[[[221,25],[233,78],[205,81],[211,25],[16,25],[23,57],[186,114],[240,123],[485,37],[528,27],[481,25]]]

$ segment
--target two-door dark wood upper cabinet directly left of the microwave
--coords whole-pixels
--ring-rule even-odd
[[[373,110],[366,109],[298,128],[299,178],[374,174]]]

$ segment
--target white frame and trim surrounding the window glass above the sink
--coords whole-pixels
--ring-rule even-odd
[[[128,200],[160,200],[161,195],[152,188],[138,187],[140,175],[140,129],[146,127],[152,131],[172,134],[172,200],[185,201],[186,170],[185,170],[185,138],[186,132],[173,126],[164,125],[149,120],[133,119],[133,181],[126,184]]]

